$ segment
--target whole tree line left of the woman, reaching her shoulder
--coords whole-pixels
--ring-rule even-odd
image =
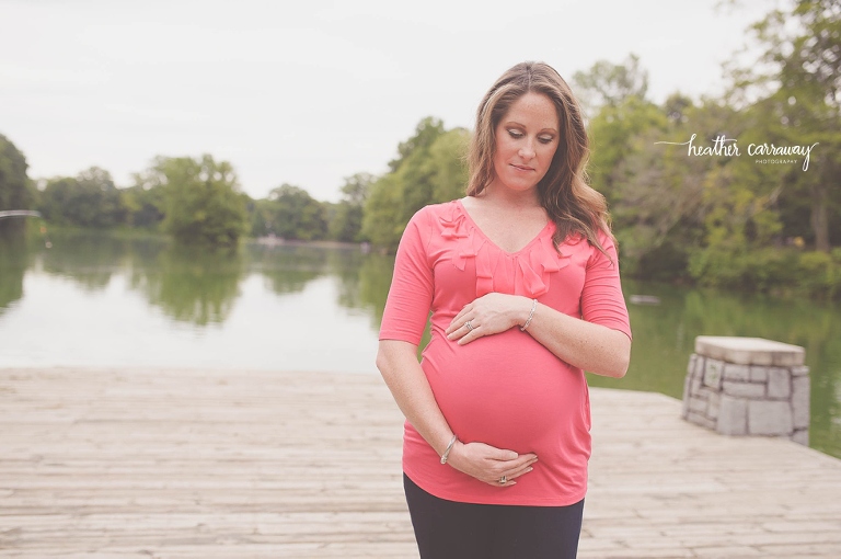
[[[369,241],[389,250],[424,204],[462,195],[469,137],[464,129],[446,130],[439,119],[425,118],[400,144],[389,173],[348,176],[342,199],[330,203],[286,183],[265,198],[251,198],[241,191],[231,163],[210,155],[158,157],[133,174],[128,187],[118,187],[97,167],[77,176],[33,181],[24,155],[0,135],[0,209],[36,209],[58,226],[160,230],[183,243],[233,246],[242,236],[275,236]]]

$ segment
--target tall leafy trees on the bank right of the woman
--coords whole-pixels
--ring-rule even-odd
[[[841,294],[832,251],[841,242],[839,15],[827,0],[770,13],[753,27],[764,49],[756,67],[765,72],[731,69],[721,100],[675,93],[655,105],[634,56],[575,76],[596,109],[590,178],[611,205],[627,275]],[[738,138],[740,153],[693,156],[690,138],[696,146]],[[751,144],[816,149],[804,171],[803,156],[768,164],[768,156],[746,153]]]

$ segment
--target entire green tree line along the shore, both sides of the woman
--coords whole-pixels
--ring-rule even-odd
[[[798,0],[752,32],[762,71],[730,68],[716,98],[677,92],[653,102],[634,55],[577,72],[573,89],[590,116],[590,182],[608,198],[629,276],[839,297],[841,7]],[[424,118],[385,173],[345,179],[337,204],[290,184],[252,199],[230,163],[210,156],[158,158],[127,189],[95,168],[34,187],[23,156],[0,136],[0,209],[34,207],[50,223],[82,227],[160,228],[185,242],[275,235],[393,251],[414,212],[463,195],[470,134]],[[807,166],[803,150],[791,152],[808,146]]]

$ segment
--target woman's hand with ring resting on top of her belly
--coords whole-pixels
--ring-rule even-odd
[[[528,315],[531,300],[518,295],[488,293],[474,299],[456,315],[445,333],[459,345],[484,335],[498,334],[521,323],[518,317]]]

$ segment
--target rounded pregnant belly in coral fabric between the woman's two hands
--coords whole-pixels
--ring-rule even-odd
[[[434,336],[423,367],[464,442],[539,452],[562,432],[589,429],[584,374],[517,329],[463,346]]]

